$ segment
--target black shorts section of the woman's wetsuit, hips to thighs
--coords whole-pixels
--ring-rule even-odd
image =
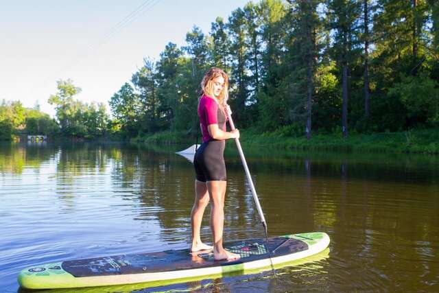
[[[195,178],[198,181],[226,181],[224,148],[226,141],[206,141],[202,143],[193,157]]]

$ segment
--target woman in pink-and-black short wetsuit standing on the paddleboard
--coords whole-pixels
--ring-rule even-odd
[[[239,130],[226,131],[226,104],[228,98],[228,76],[218,68],[211,68],[201,82],[202,97],[198,103],[198,117],[203,143],[193,159],[195,167],[195,203],[191,212],[191,252],[210,250],[202,243],[200,227],[204,209],[211,202],[211,229],[213,234],[213,257],[238,259],[222,246],[224,226],[224,198],[226,197],[226,164],[224,147],[226,139],[239,139]]]

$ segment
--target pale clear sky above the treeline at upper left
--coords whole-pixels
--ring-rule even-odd
[[[104,102],[167,43],[185,45],[193,25],[209,34],[249,0],[23,0],[0,9],[0,102],[21,101],[51,116],[57,80],[73,80],[82,102]]]

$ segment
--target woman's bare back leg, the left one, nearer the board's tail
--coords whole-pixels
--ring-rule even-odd
[[[195,202],[191,211],[192,244],[191,252],[212,249],[212,246],[201,242],[200,228],[204,209],[209,204],[209,193],[205,182],[195,180]]]

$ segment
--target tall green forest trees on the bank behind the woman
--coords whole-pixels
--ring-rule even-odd
[[[126,138],[161,133],[157,141],[169,131],[193,135],[200,81],[211,66],[230,74],[228,103],[241,129],[300,137],[311,126],[320,144],[321,134],[342,141],[347,128],[357,136],[436,127],[438,5],[249,2],[215,19],[209,35],[194,25],[185,45],[168,43],[156,62],[145,59],[132,85],[111,98],[115,120],[108,127]],[[75,94],[68,89],[57,95],[62,127],[68,117],[62,101],[72,103]]]

